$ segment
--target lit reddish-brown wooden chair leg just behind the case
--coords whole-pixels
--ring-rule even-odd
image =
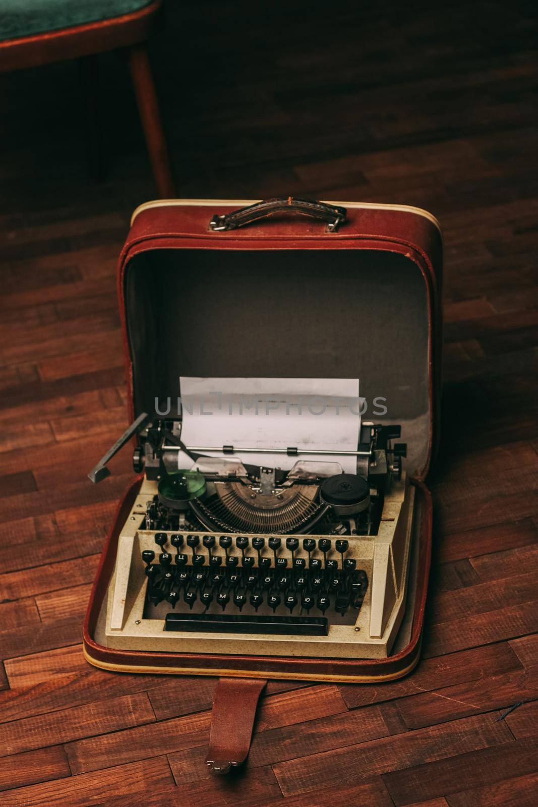
[[[129,48],[129,68],[159,194],[161,199],[174,199],[176,189],[170,169],[170,158],[162,128],[148,50],[144,44],[133,45]]]

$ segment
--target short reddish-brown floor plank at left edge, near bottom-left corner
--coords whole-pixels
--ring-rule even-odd
[[[0,763],[0,790],[23,788],[28,784],[38,784],[71,776],[69,763],[62,746],[38,748],[3,757]],[[0,804],[2,797],[0,797]]]

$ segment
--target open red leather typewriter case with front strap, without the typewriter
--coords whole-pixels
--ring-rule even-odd
[[[131,420],[153,411],[159,395],[179,394],[180,374],[358,376],[367,379],[367,397],[386,398],[411,446],[413,569],[406,617],[386,658],[107,646],[102,614],[119,533],[142,478],[133,480],[91,592],[85,657],[111,671],[221,676],[208,758],[215,770],[248,753],[266,679],[381,682],[418,662],[432,542],[424,480],[439,425],[441,261],[439,224],[415,207],[291,197],[165,200],[142,205],[132,217],[117,285]]]

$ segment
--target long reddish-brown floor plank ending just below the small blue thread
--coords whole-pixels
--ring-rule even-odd
[[[512,735],[502,721],[496,722],[491,715],[479,715],[348,746],[339,751],[291,759],[274,765],[273,770],[282,792],[287,795],[314,790],[317,780],[336,784],[345,779],[351,784],[365,776],[450,759],[467,751],[511,740]],[[436,795],[443,794],[441,791]],[[394,799],[391,791],[390,795]],[[417,797],[421,797],[419,792],[415,794],[415,801]]]

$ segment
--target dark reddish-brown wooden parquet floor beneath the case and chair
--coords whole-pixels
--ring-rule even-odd
[[[202,763],[212,679],[81,655],[131,479],[128,451],[86,479],[127,422],[115,259],[155,194],[127,67],[102,57],[102,184],[76,65],[0,78],[2,807],[536,805],[533,6],[176,2],[156,31],[182,196],[417,205],[446,245],[423,659],[386,685],[270,684],[248,765],[222,779]]]

